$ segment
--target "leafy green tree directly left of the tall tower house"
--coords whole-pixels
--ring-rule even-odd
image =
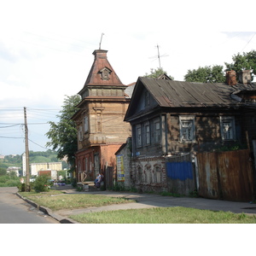
[[[74,164],[74,154],[78,150],[77,129],[71,117],[78,111],[76,106],[80,100],[79,95],[66,96],[60,111],[61,114],[57,115],[60,119],[59,123],[55,124],[55,122],[50,121],[50,129],[46,133],[46,136],[51,140],[51,142],[46,143],[46,146],[56,149],[59,159],[67,155],[67,161],[70,165]]]

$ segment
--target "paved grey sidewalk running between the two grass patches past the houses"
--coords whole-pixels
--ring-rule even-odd
[[[112,197],[125,197],[127,199],[136,200],[137,202],[131,202],[126,204],[110,205],[106,207],[90,207],[83,209],[64,209],[52,212],[46,207],[41,207],[40,210],[48,213],[53,218],[57,219],[60,223],[76,223],[68,216],[86,212],[102,212],[102,211],[114,211],[125,209],[137,209],[137,208],[151,208],[151,207],[192,207],[196,209],[205,209],[212,211],[224,211],[234,213],[247,213],[250,215],[256,215],[256,204],[250,204],[249,202],[234,202],[234,201],[220,201],[211,200],[205,198],[190,198],[190,197],[172,197],[162,196],[154,194],[137,194],[128,192],[113,192],[113,191],[89,191],[78,192],[71,186],[59,187],[58,190],[62,190],[68,194],[91,194],[91,195],[107,195]]]

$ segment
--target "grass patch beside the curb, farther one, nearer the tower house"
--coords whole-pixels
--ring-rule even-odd
[[[55,192],[53,192],[55,191]],[[34,201],[42,207],[48,207],[53,211],[61,209],[79,209],[87,207],[102,207],[112,204],[134,202],[125,198],[109,197],[106,195],[74,194],[65,195],[57,190],[44,193],[22,192],[20,195]]]

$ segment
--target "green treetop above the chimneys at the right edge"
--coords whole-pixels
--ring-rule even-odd
[[[226,70],[235,70],[236,76],[238,79],[238,75],[242,70],[251,70],[252,71],[252,80],[253,74],[256,75],[256,51],[251,50],[247,53],[243,52],[242,54],[238,53],[237,55],[233,55],[232,60],[234,62],[227,63],[225,65],[227,67]]]

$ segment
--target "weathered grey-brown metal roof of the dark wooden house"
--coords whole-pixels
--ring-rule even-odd
[[[151,79],[139,77],[131,96],[131,102],[125,120],[135,117],[137,100],[146,88],[161,108],[230,108],[245,103],[237,101],[237,92],[253,90],[256,84],[236,84],[230,86],[224,83],[191,83],[168,79]],[[255,104],[254,104],[255,105]],[[140,113],[146,113],[146,109]]]

